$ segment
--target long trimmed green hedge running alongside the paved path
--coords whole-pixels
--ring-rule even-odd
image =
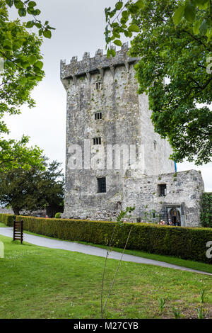
[[[1,219],[1,215],[0,215]],[[206,257],[206,243],[212,241],[212,229],[204,227],[170,227],[147,223],[64,220],[17,216],[23,219],[24,230],[40,235],[93,244],[107,244],[114,232],[115,246],[124,247],[131,226],[131,236],[127,249],[139,249],[155,254],[167,254],[182,259],[204,261],[212,264]]]

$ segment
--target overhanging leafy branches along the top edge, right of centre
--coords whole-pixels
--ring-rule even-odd
[[[176,2],[177,1],[173,1]],[[175,27],[184,19],[190,23],[193,27],[193,38],[195,35],[201,35],[201,38],[206,38],[206,43],[208,43],[212,38],[212,15],[211,15],[211,0],[185,0],[179,1],[181,4],[177,6],[174,14],[169,10],[169,5],[165,4],[167,7],[166,16],[170,18]],[[127,38],[131,38],[133,33],[141,33],[142,26],[140,27],[135,23],[135,19],[139,16],[139,13],[143,11],[145,13],[148,1],[146,0],[128,0],[124,2],[117,1],[114,9],[105,8],[105,18],[107,26],[105,27],[105,41],[107,57],[114,57],[116,52],[112,47],[112,43],[117,46],[122,46],[122,41],[120,40],[121,34],[124,34]],[[199,15],[199,12],[204,13],[204,16]],[[122,16],[119,19],[119,16]],[[158,16],[158,13],[154,12],[154,17],[158,18],[160,21],[167,22],[166,18]],[[111,21],[111,18],[112,21]],[[189,31],[186,31],[189,33]],[[192,34],[191,34],[192,35]],[[203,43],[199,38],[199,43]]]

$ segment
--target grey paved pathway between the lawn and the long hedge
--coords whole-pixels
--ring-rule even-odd
[[[7,237],[13,237],[13,228],[12,227],[0,227],[0,235],[7,236]],[[79,244],[79,243],[74,243],[74,242],[66,242],[63,240],[51,239],[51,238],[46,238],[46,237],[39,237],[39,236],[30,235],[30,234],[26,234],[26,233],[24,234],[23,239],[25,242],[39,245],[40,247],[49,247],[51,249],[64,249],[64,250],[72,251],[72,252],[91,254],[93,256],[105,257],[106,253],[107,253],[107,251],[105,249],[101,249],[100,247],[91,247],[90,245],[84,245],[84,244]],[[112,252],[110,252],[109,258],[119,260],[121,256],[122,256],[121,253],[112,251]],[[139,264],[151,264],[154,266],[168,267],[170,269],[179,269],[181,271],[192,271],[192,272],[202,273],[202,274],[212,276],[212,273],[206,273],[204,271],[196,271],[195,269],[188,269],[188,268],[182,267],[182,266],[167,264],[166,262],[163,262],[163,261],[141,258],[140,256],[132,256],[130,254],[124,254],[122,260],[136,262]]]

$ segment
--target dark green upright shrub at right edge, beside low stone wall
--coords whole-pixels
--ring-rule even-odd
[[[203,227],[212,227],[212,192],[201,196],[200,220]]]

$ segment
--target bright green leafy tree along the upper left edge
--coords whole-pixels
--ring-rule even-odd
[[[8,6],[16,6],[19,16],[29,13],[34,20],[20,23],[19,20],[9,21]],[[44,77],[42,71],[42,55],[40,46],[42,39],[35,33],[29,33],[26,28],[37,26],[39,35],[51,37],[51,27],[48,22],[42,26],[36,16],[40,14],[35,9],[34,1],[0,0],[0,60],[4,69],[0,69],[0,133],[8,134],[9,130],[2,120],[5,113],[18,114],[20,106],[27,103],[31,108],[35,101],[30,98],[30,92]],[[1,62],[2,63],[2,62]],[[42,168],[42,151],[38,147],[28,147],[29,138],[24,136],[20,141],[6,140],[0,137],[0,164],[4,169],[16,167],[29,168],[40,165]]]

